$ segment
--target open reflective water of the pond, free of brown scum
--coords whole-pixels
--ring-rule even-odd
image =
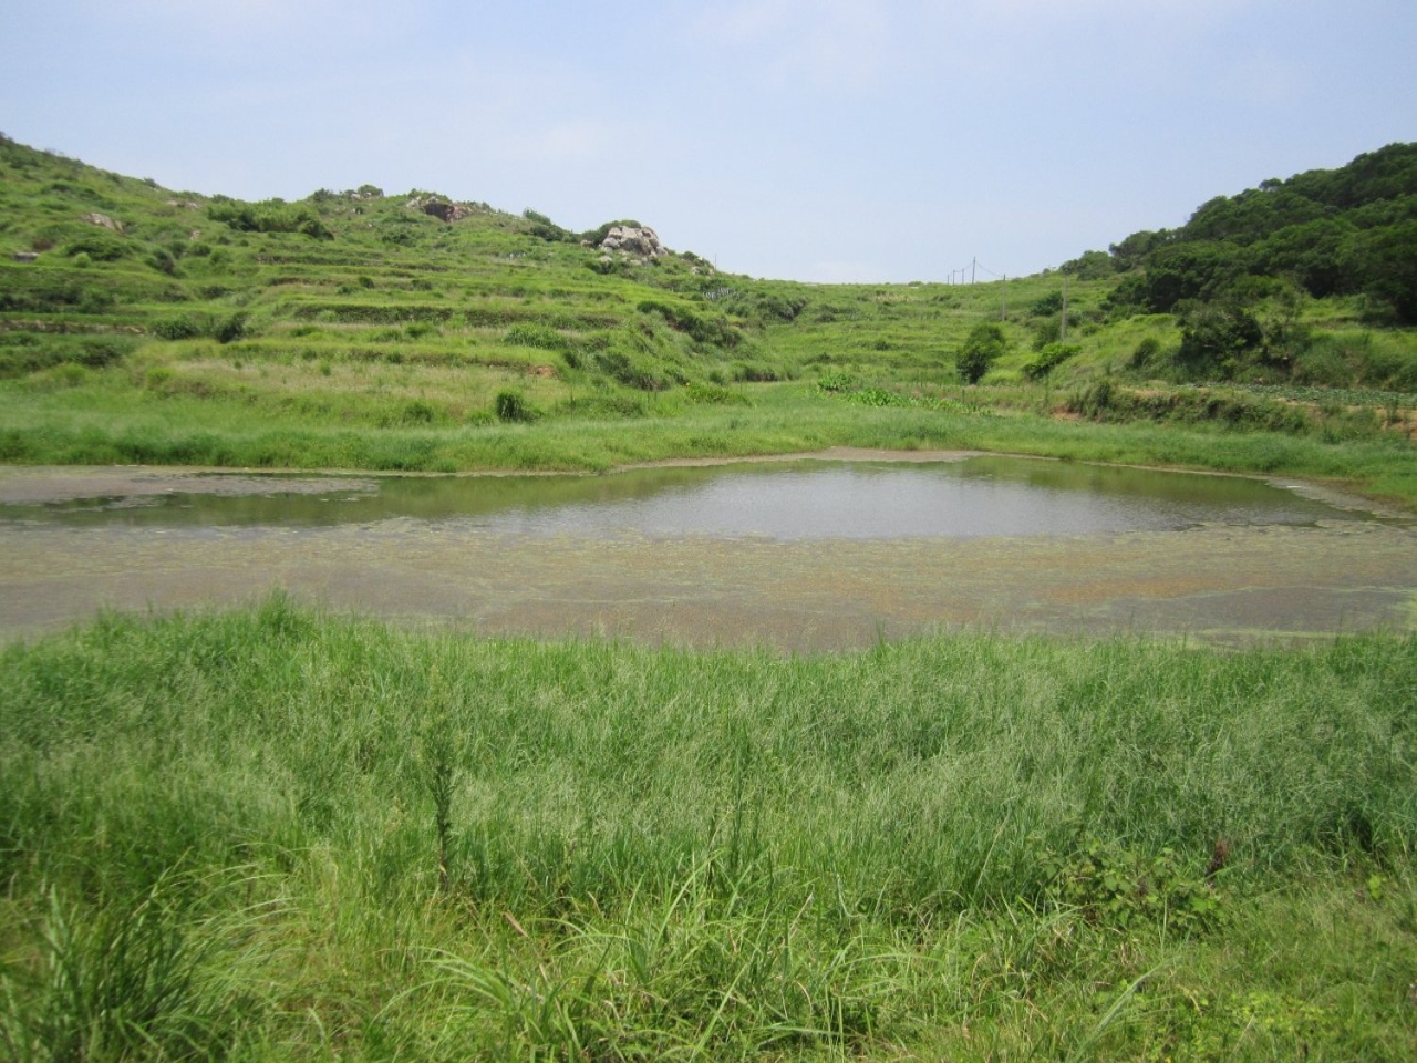
[[[251,480],[249,475],[244,476]],[[180,492],[0,506],[69,527],[339,526],[412,519],[527,536],[972,539],[1312,524],[1356,516],[1258,480],[1023,458],[765,462],[606,476],[329,478],[261,493]],[[289,480],[292,485],[295,480]]]

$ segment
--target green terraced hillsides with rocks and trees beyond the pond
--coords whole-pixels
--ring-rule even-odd
[[[633,221],[570,232],[371,186],[241,203],[3,140],[0,461],[604,469],[968,445],[1343,469],[1417,497],[1399,468],[1417,332],[1383,265],[1413,258],[1414,152],[1214,200],[1060,272],[808,285],[602,245]],[[1214,269],[1162,299],[1186,262]]]

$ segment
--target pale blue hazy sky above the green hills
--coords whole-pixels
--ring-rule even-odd
[[[0,0],[0,132],[238,198],[985,281],[1417,140],[1413,0]]]

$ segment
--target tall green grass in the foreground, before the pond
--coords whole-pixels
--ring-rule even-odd
[[[0,658],[13,1059],[1407,1059],[1417,641]]]

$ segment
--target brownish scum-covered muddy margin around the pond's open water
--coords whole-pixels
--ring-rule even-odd
[[[747,461],[968,456],[832,449]],[[0,503],[116,499],[122,506],[130,499],[140,506],[183,493],[377,493],[387,479],[337,471],[10,466],[0,468]],[[1268,482],[1373,512],[1370,503],[1331,488],[1287,478]],[[0,526],[0,641],[54,631],[103,608],[220,608],[275,588],[414,626],[794,652],[961,626],[1221,643],[1417,628],[1417,529],[1410,517],[898,541],[527,537],[451,532],[412,517],[319,527],[77,527],[20,519]]]

